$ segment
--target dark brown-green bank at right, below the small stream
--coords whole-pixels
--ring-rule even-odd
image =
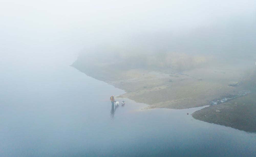
[[[255,96],[256,93],[249,93],[225,103],[202,108],[191,115],[200,121],[256,133]]]

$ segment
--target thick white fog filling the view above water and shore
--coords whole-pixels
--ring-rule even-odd
[[[143,50],[251,53],[255,49],[255,4],[255,1],[3,1],[1,62],[26,60],[43,64],[45,59],[54,58],[57,63],[70,54],[77,57],[79,52],[89,53],[95,47],[111,47],[116,51],[121,47],[119,51],[129,53],[136,50],[138,53],[139,48],[141,53]]]

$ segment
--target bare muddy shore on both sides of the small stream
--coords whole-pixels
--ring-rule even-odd
[[[256,117],[256,110],[255,113],[249,112],[250,110],[254,111],[254,106],[239,106],[236,109],[227,107],[232,106],[230,102],[233,99],[241,99],[242,101],[244,97],[248,97],[248,94],[240,97],[235,96],[240,95],[241,91],[248,91],[253,86],[250,83],[254,82],[251,75],[255,75],[255,68],[246,67],[246,69],[242,66],[221,64],[219,66],[206,66],[183,72],[173,72],[171,70],[145,69],[120,70],[106,65],[93,66],[92,68],[71,66],[90,77],[125,91],[124,94],[115,96],[115,98],[128,98],[137,103],[148,105],[140,110],[204,107],[192,113],[192,117],[243,131],[256,132],[256,128],[253,126],[245,126],[256,123],[252,118],[253,116]],[[229,85],[230,82],[237,82],[237,84]],[[253,95],[253,93],[249,95]],[[228,100],[231,97],[235,98]],[[239,118],[242,119],[242,122],[239,121]],[[230,119],[238,120],[232,121]]]

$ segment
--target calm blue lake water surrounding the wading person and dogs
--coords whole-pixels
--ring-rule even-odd
[[[110,96],[124,91],[68,64],[2,72],[0,156],[256,155],[254,133],[193,119],[202,107],[141,110],[116,99],[126,104],[112,109]]]

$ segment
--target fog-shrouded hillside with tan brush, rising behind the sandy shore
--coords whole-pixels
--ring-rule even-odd
[[[84,50],[75,66],[190,70],[212,62],[255,60],[256,18],[187,31],[141,32]]]

